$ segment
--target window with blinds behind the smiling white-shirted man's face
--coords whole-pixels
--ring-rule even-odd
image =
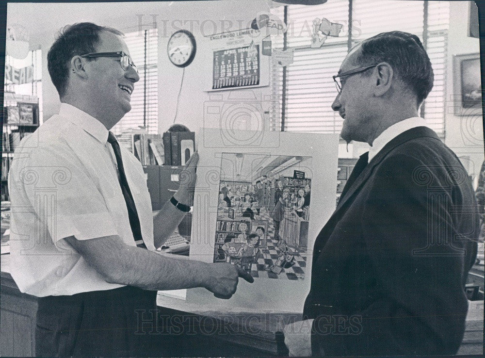
[[[131,111],[113,127],[114,134],[146,127],[148,133],[158,133],[158,55],[157,29],[125,34],[125,42],[138,69],[140,81],[131,94]]]

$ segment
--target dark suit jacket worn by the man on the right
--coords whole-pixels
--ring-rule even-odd
[[[312,354],[455,354],[478,225],[468,174],[433,130],[390,141],[316,238]]]

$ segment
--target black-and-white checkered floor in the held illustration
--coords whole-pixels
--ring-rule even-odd
[[[282,269],[279,274],[275,274],[272,271],[266,270],[268,266],[274,265],[278,259],[281,251],[276,246],[277,240],[275,239],[275,225],[273,219],[269,215],[268,211],[262,208],[259,212],[259,219],[268,220],[268,236],[266,248],[262,248],[261,252],[264,258],[258,259],[258,263],[252,265],[251,276],[252,277],[264,277],[264,278],[279,278],[289,280],[299,280],[305,278],[305,271],[307,267],[307,253],[300,252],[294,255],[295,264],[287,269]],[[292,249],[291,249],[292,250]]]

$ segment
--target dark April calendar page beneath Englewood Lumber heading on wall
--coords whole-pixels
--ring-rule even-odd
[[[214,51],[212,89],[257,86],[259,45]]]

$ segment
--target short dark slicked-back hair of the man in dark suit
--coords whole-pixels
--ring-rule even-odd
[[[358,45],[357,45],[358,46]],[[359,65],[387,62],[416,95],[418,106],[433,88],[434,74],[418,36],[402,31],[379,33],[360,43]]]

